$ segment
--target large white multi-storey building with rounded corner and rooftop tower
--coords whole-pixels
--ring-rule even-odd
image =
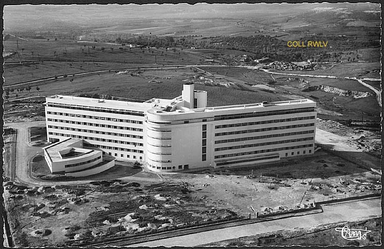
[[[308,100],[206,107],[207,93],[143,103],[55,95],[46,98],[50,142],[84,140],[119,161],[158,172],[278,161],[314,152],[316,103]]]

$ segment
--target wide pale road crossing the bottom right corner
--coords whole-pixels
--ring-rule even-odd
[[[380,198],[337,203],[322,207],[324,210],[323,213],[240,225],[238,227],[212,230],[156,241],[148,241],[128,246],[197,246],[211,242],[276,232],[281,230],[293,230],[294,228],[311,228],[319,224],[358,221],[371,217],[381,217]]]

